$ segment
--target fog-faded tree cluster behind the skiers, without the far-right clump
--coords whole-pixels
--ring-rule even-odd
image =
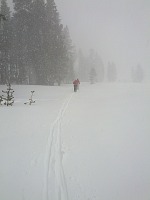
[[[84,82],[103,82],[108,80],[114,82],[117,80],[117,68],[114,63],[108,63],[107,69],[99,56],[99,54],[90,49],[87,56],[82,53],[82,50],[78,52],[76,73],[81,81]]]

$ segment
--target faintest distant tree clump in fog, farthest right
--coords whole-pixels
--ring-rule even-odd
[[[141,82],[144,79],[144,72],[142,67],[138,64],[136,67],[132,68],[131,72],[132,80],[134,82]]]

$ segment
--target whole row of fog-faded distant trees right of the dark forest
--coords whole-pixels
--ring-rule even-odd
[[[84,82],[116,82],[121,81],[118,69],[114,62],[108,62],[107,66],[104,65],[103,60],[99,54],[90,49],[88,55],[84,55],[80,49],[77,54],[76,62],[76,76]],[[144,80],[144,70],[140,64],[131,67],[130,77],[126,81],[142,82]],[[124,81],[124,80],[122,80]]]

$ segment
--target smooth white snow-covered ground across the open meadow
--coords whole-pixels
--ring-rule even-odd
[[[1,200],[149,200],[149,83],[12,88],[15,104],[0,106]]]

